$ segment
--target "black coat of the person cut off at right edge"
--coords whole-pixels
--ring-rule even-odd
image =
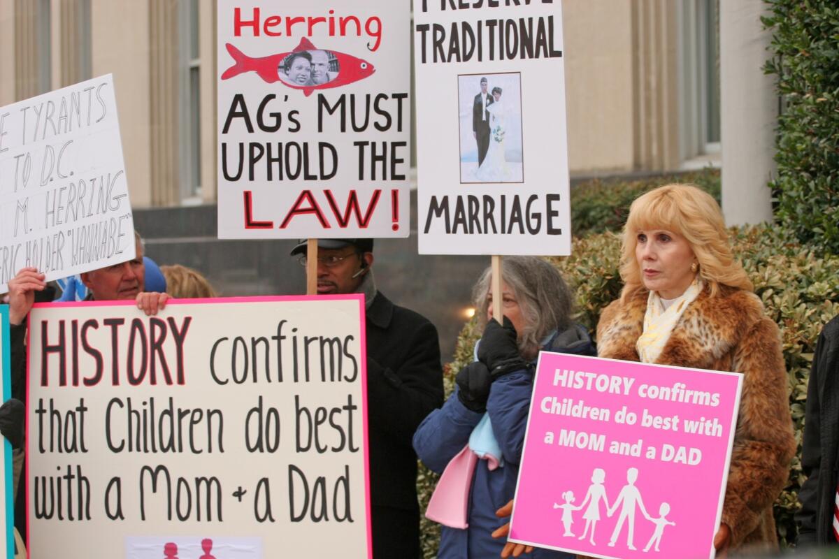
[[[839,317],[821,331],[807,387],[801,468],[807,480],[798,499],[798,545],[836,543],[833,504],[839,451]]]

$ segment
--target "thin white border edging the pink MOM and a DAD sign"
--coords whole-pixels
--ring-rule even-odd
[[[570,357],[574,357],[575,359],[593,360],[593,361],[599,361],[599,362],[608,361],[608,362],[612,362],[612,363],[628,363],[628,364],[631,364],[631,365],[644,365],[644,366],[648,366],[648,367],[660,367],[662,369],[675,369],[675,370],[680,370],[680,371],[693,370],[693,371],[696,371],[698,373],[703,373],[703,374],[708,374],[708,375],[725,375],[725,376],[735,376],[735,377],[737,377],[737,394],[735,395],[735,398],[734,398],[734,411],[732,412],[731,428],[729,428],[729,430],[728,430],[729,431],[728,448],[727,448],[727,451],[726,451],[726,462],[725,462],[726,468],[725,468],[725,471],[722,474],[722,484],[720,485],[720,496],[719,496],[719,499],[717,499],[717,520],[715,521],[715,524],[720,525],[720,523],[722,522],[722,505],[723,505],[723,503],[725,501],[725,498],[726,498],[726,485],[728,484],[728,468],[731,467],[732,445],[734,443],[734,432],[737,431],[737,429],[736,429],[737,415],[740,412],[740,396],[743,393],[743,374],[742,373],[735,373],[735,372],[722,371],[722,370],[696,369],[694,367],[680,367],[680,366],[675,366],[675,365],[659,365],[658,363],[641,363],[639,361],[624,361],[624,360],[617,360],[617,359],[609,359],[607,357],[590,357],[588,355],[570,355],[570,354],[562,354],[562,353],[551,352],[551,351],[541,351],[541,352],[539,352],[539,360],[536,362],[536,372],[534,374],[534,379],[533,379],[534,391],[530,395],[530,409],[528,411],[528,422],[527,422],[527,427],[524,430],[524,443],[525,444],[524,444],[524,448],[522,448],[522,458],[521,458],[521,463],[519,464],[519,477],[516,479],[516,494],[513,498],[513,499],[516,499],[516,500],[518,500],[518,497],[519,497],[519,482],[521,481],[522,471],[524,470],[524,456],[525,456],[525,452],[527,451],[527,444],[526,443],[529,440],[528,437],[529,437],[529,432],[530,432],[530,411],[533,411],[534,395],[536,393],[535,388],[536,388],[537,382],[539,380],[539,372],[542,369],[542,357],[543,357],[543,355],[560,355],[560,356],[566,356],[566,357],[570,356]],[[510,515],[510,530],[511,530],[511,533],[512,533],[512,529],[513,529],[513,523],[515,521],[515,515],[516,515],[516,510],[515,510],[515,505],[513,504],[513,514]],[[508,541],[513,541],[514,543],[524,544],[526,546],[539,547],[539,548],[542,548],[542,549],[551,549],[551,550],[555,550],[555,551],[565,551],[566,553],[574,553],[574,554],[583,553],[582,551],[579,551],[579,550],[566,549],[565,547],[548,546],[548,545],[540,544],[540,543],[537,543],[537,542],[534,542],[534,541],[519,540],[519,539],[513,538],[513,537],[508,538]],[[708,559],[714,559],[714,556],[716,556],[716,551],[714,550],[714,546],[713,546],[712,541],[710,542],[710,545],[711,545],[711,551],[709,552]],[[591,552],[591,551],[585,551],[584,555],[591,556],[591,557],[597,557],[598,559],[621,559],[618,556],[600,555],[598,553],[594,553],[594,552]]]

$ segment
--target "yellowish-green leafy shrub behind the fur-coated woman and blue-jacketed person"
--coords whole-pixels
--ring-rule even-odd
[[[799,451],[789,472],[789,484],[775,504],[779,539],[788,546],[795,541],[797,494],[804,481],[801,474],[800,443],[810,364],[822,326],[839,314],[839,257],[820,258],[789,234],[767,225],[732,229],[738,258],[763,299],[766,312],[778,323],[783,340],[784,361],[789,375],[789,403]],[[614,233],[577,239],[573,256],[551,258],[576,293],[576,320],[592,335],[602,308],[618,298],[622,283],[618,276],[620,239]],[[453,374],[472,360],[472,346],[480,333],[467,323],[458,339],[455,360],[447,366],[446,386],[451,391]],[[424,478],[424,498],[435,479]],[[424,509],[425,510],[425,509]],[[439,531],[424,530],[425,557],[433,557]]]

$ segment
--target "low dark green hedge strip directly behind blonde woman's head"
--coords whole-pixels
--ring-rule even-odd
[[[693,173],[655,176],[647,179],[592,179],[571,187],[571,230],[581,237],[617,231],[629,214],[629,204],[644,192],[662,184],[693,183],[720,201],[720,172],[706,168]]]

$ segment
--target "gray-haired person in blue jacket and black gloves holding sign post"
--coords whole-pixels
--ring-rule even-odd
[[[539,350],[597,355],[586,329],[571,322],[571,291],[560,273],[534,256],[503,259],[503,325],[492,317],[491,269],[473,297],[483,336],[477,360],[456,376],[446,404],[420,424],[414,449],[444,473],[426,515],[443,524],[439,559],[498,557],[495,514],[513,499]],[[524,555],[572,557],[536,549]]]

